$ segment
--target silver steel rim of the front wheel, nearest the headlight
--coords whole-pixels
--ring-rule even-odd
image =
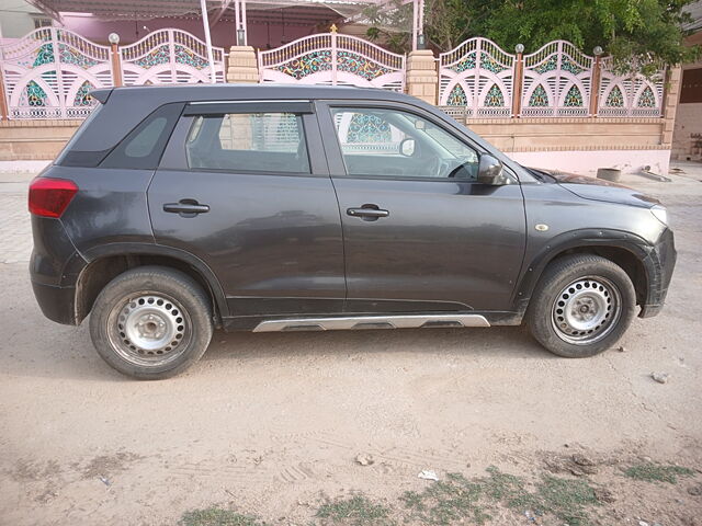
[[[622,316],[619,288],[601,276],[579,277],[553,302],[551,322],[564,342],[590,345],[611,333]]]

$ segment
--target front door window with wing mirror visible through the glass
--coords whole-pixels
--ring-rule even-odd
[[[332,108],[349,175],[469,179],[478,155],[468,145],[412,113],[384,108]]]

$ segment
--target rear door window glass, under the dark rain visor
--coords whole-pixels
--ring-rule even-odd
[[[194,169],[309,173],[302,116],[293,113],[196,116],[185,150]]]

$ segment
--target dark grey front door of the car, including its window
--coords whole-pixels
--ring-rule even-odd
[[[346,310],[508,310],[525,243],[517,180],[477,183],[480,148],[411,106],[324,110],[343,227]]]

